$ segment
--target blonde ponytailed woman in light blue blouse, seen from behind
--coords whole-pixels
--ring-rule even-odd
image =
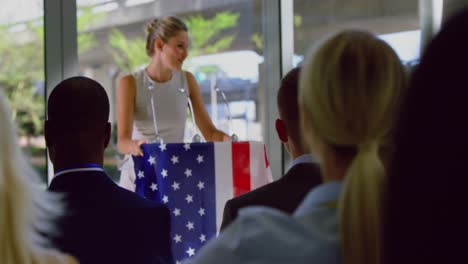
[[[251,207],[195,263],[381,262],[378,150],[393,125],[405,70],[374,35],[343,31],[312,50],[300,74],[302,131],[320,159],[323,184],[294,215]]]

